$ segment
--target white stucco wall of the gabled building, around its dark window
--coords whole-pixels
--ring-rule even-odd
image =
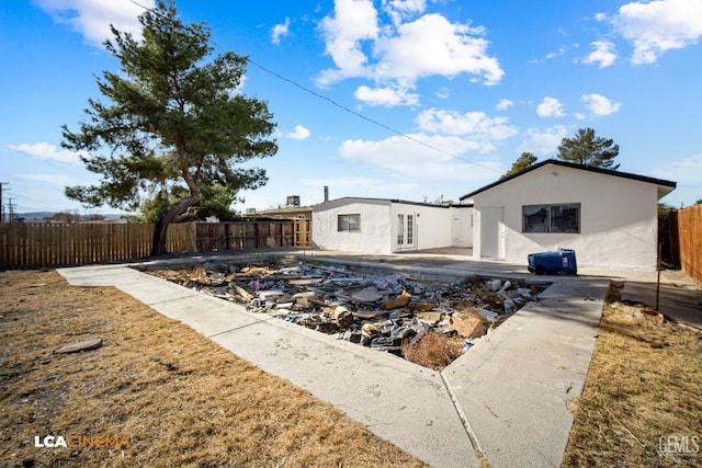
[[[474,255],[484,256],[486,208],[505,207],[507,261],[525,264],[529,253],[568,248],[584,266],[655,269],[657,201],[653,183],[546,164],[474,196]],[[522,232],[522,206],[575,203],[580,233]]]

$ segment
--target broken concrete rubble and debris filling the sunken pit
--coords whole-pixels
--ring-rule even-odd
[[[398,356],[428,332],[460,338],[468,350],[524,304],[539,300],[546,286],[479,276],[455,284],[422,282],[406,273],[362,274],[312,262],[206,263],[151,273]]]

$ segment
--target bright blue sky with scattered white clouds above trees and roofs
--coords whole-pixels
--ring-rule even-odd
[[[325,185],[331,198],[457,201],[586,127],[619,144],[621,171],[676,181],[663,202],[702,198],[702,0],[177,7],[218,53],[250,57],[242,92],[278,123],[278,155],[254,163],[270,180],[237,210],[319,203]],[[118,69],[101,46],[109,24],[138,34],[141,12],[129,0],[0,3],[0,182],[15,212],[111,212],[64,196],[99,179],[61,149],[60,127],[77,129],[100,98],[95,76]]]

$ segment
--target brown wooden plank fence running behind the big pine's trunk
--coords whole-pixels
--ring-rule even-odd
[[[168,227],[169,252],[312,246],[312,221],[188,222]],[[0,224],[0,266],[81,265],[146,258],[152,224]]]

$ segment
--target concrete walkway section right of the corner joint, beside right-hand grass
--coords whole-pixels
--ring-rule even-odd
[[[443,370],[490,465],[561,465],[605,289],[556,283]]]

